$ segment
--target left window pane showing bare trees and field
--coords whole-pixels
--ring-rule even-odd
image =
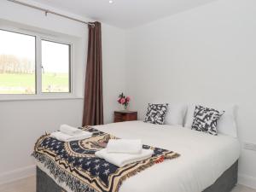
[[[35,37],[0,30],[0,94],[35,94]]]

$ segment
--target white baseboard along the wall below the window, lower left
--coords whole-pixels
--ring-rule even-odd
[[[4,183],[14,182],[21,178],[30,177],[36,174],[36,166],[26,166],[11,172],[0,173],[0,185]]]

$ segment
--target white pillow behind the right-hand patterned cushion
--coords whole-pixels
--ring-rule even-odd
[[[202,105],[204,106],[204,105]],[[214,108],[209,107],[208,108]],[[225,111],[225,113],[218,119],[217,131],[218,133],[228,135],[231,137],[237,137],[236,130],[236,120],[235,120],[235,106],[230,105],[224,108],[215,107],[218,111]],[[191,126],[194,121],[194,112],[195,112],[195,104],[189,104],[186,118],[185,118],[185,127],[191,129]]]

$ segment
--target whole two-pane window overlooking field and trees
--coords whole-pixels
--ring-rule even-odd
[[[0,30],[0,95],[71,93],[71,44]]]

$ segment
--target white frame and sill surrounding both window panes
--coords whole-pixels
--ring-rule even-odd
[[[0,94],[1,101],[13,100],[48,100],[48,99],[75,99],[73,86],[73,41],[66,37],[48,35],[30,30],[17,29],[11,26],[0,26],[5,32],[15,32],[35,37],[35,93],[34,94]],[[42,40],[69,45],[69,92],[42,92]]]

